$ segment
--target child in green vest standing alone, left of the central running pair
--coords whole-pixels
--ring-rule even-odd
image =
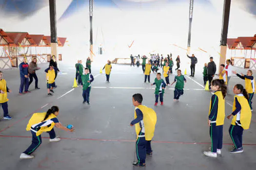
[[[87,102],[90,104],[89,97],[91,91],[91,83],[94,81],[93,75],[89,73],[89,68],[84,69],[84,75],[81,77],[83,87],[83,104]]]

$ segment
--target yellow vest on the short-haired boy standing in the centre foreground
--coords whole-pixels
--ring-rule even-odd
[[[152,138],[154,136],[154,132],[155,132],[155,126],[157,123],[157,114],[153,109],[151,109],[147,106],[139,105],[136,108],[139,108],[139,110],[141,110],[141,112],[143,114],[143,123],[144,123],[144,128],[145,128],[145,139],[152,140]],[[135,112],[134,112],[135,119],[137,118],[136,108],[135,108]],[[136,130],[137,139],[138,139],[138,135],[141,130],[139,123],[135,124],[135,130]]]

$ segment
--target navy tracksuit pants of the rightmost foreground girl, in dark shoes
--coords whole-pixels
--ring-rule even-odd
[[[229,135],[234,143],[236,149],[243,147],[243,128],[238,125],[230,125]]]

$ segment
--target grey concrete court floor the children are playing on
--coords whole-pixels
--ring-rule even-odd
[[[231,120],[225,119],[222,155],[209,158],[203,155],[210,146],[207,116],[211,93],[202,87],[202,70],[195,78],[187,78],[184,95],[180,102],[173,102],[173,89],[166,90],[164,105],[154,106],[154,89],[144,84],[140,68],[113,65],[110,83],[105,74],[95,76],[91,90],[91,105],[82,104],[81,87],[72,90],[75,76],[74,66],[60,65],[63,74],[58,75],[53,97],[47,96],[45,74],[47,65],[38,71],[39,90],[31,85],[31,93],[19,95],[20,76],[18,70],[4,71],[7,85],[13,90],[8,94],[9,113],[12,120],[0,120],[0,170],[134,170],[132,162],[135,153],[135,129],[129,124],[134,116],[132,95],[141,93],[143,104],[154,108],[158,115],[153,138],[153,156],[147,158],[147,170],[255,170],[256,167],[256,113],[253,112],[249,130],[244,131],[244,153],[230,154],[231,139],[228,129]],[[156,74],[151,74],[151,82]],[[170,76],[170,82],[174,75]],[[231,79],[230,88],[244,82]],[[114,88],[118,87],[118,88]],[[154,86],[153,86],[154,87]],[[168,88],[174,88],[168,87]],[[65,94],[65,95],[64,95]],[[64,96],[63,96],[64,95]],[[233,104],[234,95],[230,90],[226,102]],[[254,100],[255,101],[255,100]],[[48,105],[47,105],[48,104]],[[232,107],[226,104],[226,115]],[[56,129],[62,138],[50,143],[48,134],[42,136],[41,146],[34,159],[20,160],[22,153],[31,142],[31,134],[25,130],[34,112],[47,111],[52,105],[60,108],[62,124],[73,124],[76,131],[67,133]],[[255,108],[256,109],[256,108]],[[2,110],[0,113],[2,117]]]

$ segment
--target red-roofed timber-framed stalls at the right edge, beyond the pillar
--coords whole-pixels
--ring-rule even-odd
[[[227,44],[235,67],[256,69],[256,34],[252,37],[228,38]]]

